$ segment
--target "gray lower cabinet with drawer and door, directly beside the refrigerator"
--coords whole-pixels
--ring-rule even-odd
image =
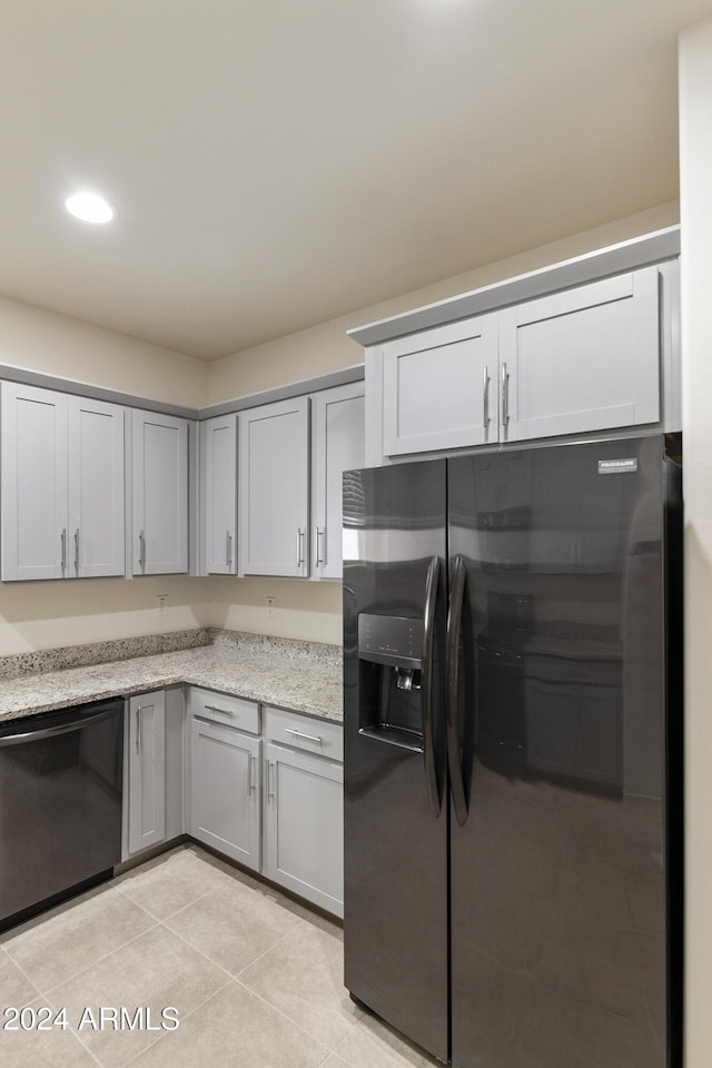
[[[343,917],[342,728],[266,709],[264,730],[280,741],[265,743],[263,873]]]

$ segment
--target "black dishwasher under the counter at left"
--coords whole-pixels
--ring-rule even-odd
[[[121,860],[123,701],[0,723],[0,929]]]

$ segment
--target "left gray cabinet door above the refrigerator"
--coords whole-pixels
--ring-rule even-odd
[[[384,346],[386,456],[497,441],[497,333],[482,315]]]

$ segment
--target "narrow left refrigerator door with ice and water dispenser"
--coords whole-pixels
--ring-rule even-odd
[[[444,462],[345,476],[345,982],[443,1061],[445,523]]]

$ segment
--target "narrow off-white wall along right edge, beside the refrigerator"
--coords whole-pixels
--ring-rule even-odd
[[[712,1061],[712,20],[680,40],[685,447],[685,1065]]]

